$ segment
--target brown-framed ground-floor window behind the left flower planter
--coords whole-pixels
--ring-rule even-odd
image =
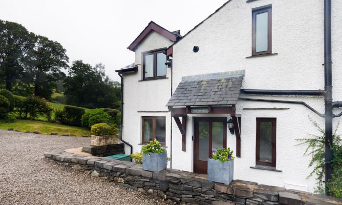
[[[156,139],[159,143],[165,145],[165,117],[143,117],[143,139],[142,143],[149,143]]]

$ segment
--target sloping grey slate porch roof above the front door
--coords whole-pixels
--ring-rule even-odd
[[[166,106],[236,104],[244,70],[182,77]]]

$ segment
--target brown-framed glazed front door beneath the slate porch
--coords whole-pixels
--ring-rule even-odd
[[[208,158],[212,157],[213,149],[227,146],[227,118],[198,117],[194,118],[194,123],[193,169],[196,173],[207,174]]]

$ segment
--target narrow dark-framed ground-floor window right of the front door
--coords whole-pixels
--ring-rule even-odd
[[[276,167],[277,118],[256,118],[256,164]]]

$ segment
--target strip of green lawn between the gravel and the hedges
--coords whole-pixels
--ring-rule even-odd
[[[0,129],[8,128],[14,128],[21,132],[33,132],[37,130],[47,135],[51,132],[58,133],[59,135],[62,135],[63,133],[74,134],[76,136],[90,135],[90,131],[83,127],[31,120],[16,120],[14,123],[0,123]]]

